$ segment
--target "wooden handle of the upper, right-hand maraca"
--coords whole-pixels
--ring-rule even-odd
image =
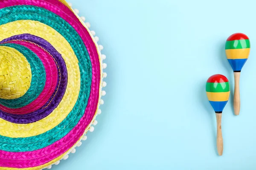
[[[235,115],[239,115],[240,112],[240,92],[239,92],[239,79],[240,72],[234,72],[235,77],[235,90],[234,90],[234,112]]]

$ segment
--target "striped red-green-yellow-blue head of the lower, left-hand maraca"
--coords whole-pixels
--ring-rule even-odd
[[[206,94],[215,113],[222,113],[230,96],[230,85],[227,77],[215,74],[206,83]]]

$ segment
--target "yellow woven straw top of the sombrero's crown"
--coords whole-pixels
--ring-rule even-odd
[[[23,96],[30,87],[31,78],[26,57],[14,48],[0,46],[0,98]]]

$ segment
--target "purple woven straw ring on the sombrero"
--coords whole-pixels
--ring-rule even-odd
[[[38,120],[44,119],[46,116],[48,116],[61,102],[61,99],[63,98],[67,88],[66,64],[64,62],[64,59],[61,57],[61,54],[59,54],[58,51],[56,51],[55,48],[49,42],[40,37],[31,34],[20,34],[9,37],[1,41],[0,44],[3,44],[11,40],[26,40],[29,42],[36,43],[37,45],[47,50],[52,55],[52,57],[55,58],[56,65],[58,65],[58,67],[60,68],[60,82],[57,83],[57,86],[55,87],[55,91],[52,94],[52,96],[40,109],[27,114],[12,114],[0,111],[0,118],[5,119],[9,122],[18,124],[37,122]]]

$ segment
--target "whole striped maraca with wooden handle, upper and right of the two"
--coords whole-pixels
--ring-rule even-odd
[[[239,79],[240,72],[250,54],[250,40],[242,33],[230,35],[227,38],[225,51],[227,60],[234,71],[235,90],[234,90],[234,112],[239,115],[240,112],[240,94],[239,94]]]

